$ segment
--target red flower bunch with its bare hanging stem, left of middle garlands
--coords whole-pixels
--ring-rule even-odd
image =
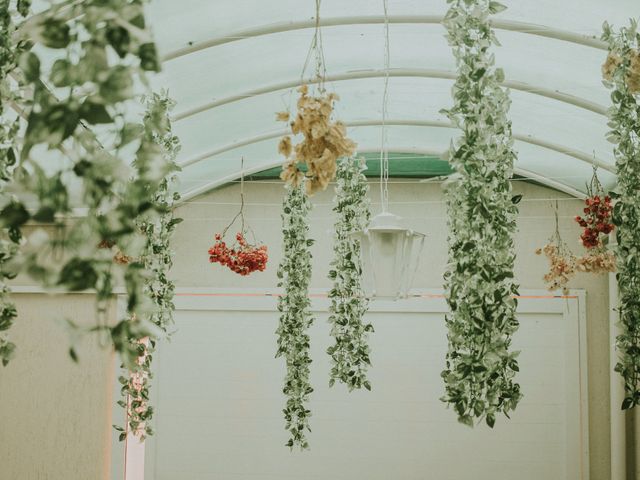
[[[267,246],[256,241],[253,230],[245,222],[244,176],[240,180],[240,199],[240,211],[221,233],[215,234],[215,243],[209,248],[209,262],[219,263],[238,275],[246,276],[253,272],[264,272],[269,255]],[[225,240],[227,231],[238,219],[240,219],[240,231],[236,233],[235,242],[229,245]],[[248,235],[253,236],[253,243],[247,241]]]

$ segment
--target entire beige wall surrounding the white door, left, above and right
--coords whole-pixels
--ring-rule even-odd
[[[578,200],[544,187],[515,182],[515,191],[524,194],[520,204],[518,260],[516,275],[522,288],[544,288],[547,268],[534,250],[542,246],[554,229],[551,198],[559,198],[561,231],[576,252],[579,229],[572,217],[581,210]],[[280,259],[280,210],[282,184],[252,182],[246,185],[246,216],[257,236],[269,246],[269,266],[263,273],[240,277],[208,263],[207,249],[213,234],[220,231],[239,207],[237,184],[200,196],[178,209],[180,224],[175,238],[173,277],[179,287],[273,288]],[[326,288],[331,258],[333,194],[314,197],[311,213],[314,274],[312,286]],[[373,202],[379,199],[378,186],[371,188]],[[416,229],[429,234],[422,256],[416,287],[440,288],[447,261],[446,212],[437,184],[418,181],[390,186],[391,210],[402,215]],[[260,204],[260,205],[257,205]],[[374,213],[377,212],[374,204]],[[591,478],[609,478],[609,327],[606,277],[579,276],[572,285],[587,290],[589,342],[589,429]],[[91,321],[93,306],[89,296],[60,299],[20,296],[21,317],[14,332],[20,357],[5,370],[0,369],[0,465],[10,465],[15,474],[7,478],[35,480],[101,478],[110,432],[109,355],[89,343],[80,367],[67,359],[67,339],[51,318],[69,315]],[[179,332],[177,333],[179,335]],[[265,338],[265,341],[275,341]],[[24,400],[24,399],[27,400]],[[55,415],[53,415],[55,412]],[[4,437],[12,439],[9,450]],[[33,442],[33,443],[32,443]],[[9,455],[7,458],[4,455]],[[47,476],[46,472],[73,472]],[[93,469],[93,470],[92,470]],[[25,473],[26,472],[26,473]],[[2,472],[5,473],[4,471]]]

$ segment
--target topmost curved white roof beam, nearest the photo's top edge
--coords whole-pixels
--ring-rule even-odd
[[[437,25],[441,24],[444,15],[391,15],[389,23],[394,24],[420,24],[420,25]],[[368,15],[359,17],[332,17],[321,18],[321,27],[338,27],[347,25],[381,25],[385,23],[385,17],[382,15]],[[585,47],[597,48],[599,50],[607,50],[607,45],[596,37],[581,35],[579,33],[560,30],[557,28],[547,27],[545,25],[536,25],[534,23],[518,22],[515,20],[506,20],[495,18],[491,21],[494,28],[498,30],[507,30],[511,32],[524,33],[528,35],[536,35],[539,37],[552,38],[563,42],[575,43]],[[237,42],[246,38],[261,37],[264,35],[272,35],[274,33],[291,32],[294,30],[306,30],[315,28],[315,19],[302,20],[297,22],[279,22],[270,25],[261,25],[244,30],[213,37],[202,42],[192,43],[186,47],[173,50],[162,57],[163,62],[168,62],[176,58],[183,57],[208,48],[225,45],[227,43]]]

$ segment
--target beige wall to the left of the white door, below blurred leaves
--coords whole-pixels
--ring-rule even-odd
[[[15,295],[17,357],[0,367],[0,478],[106,480],[111,448],[112,354],[96,338],[67,353],[62,318],[90,325],[91,295]]]

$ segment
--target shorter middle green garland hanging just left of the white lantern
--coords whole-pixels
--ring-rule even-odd
[[[362,159],[343,157],[338,161],[336,174],[336,206],[332,269],[329,278],[333,288],[329,292],[329,323],[335,343],[327,349],[332,367],[329,385],[341,381],[349,390],[366,388],[367,369],[371,365],[368,336],[373,325],[363,321],[369,301],[362,287],[362,249],[354,235],[369,224],[371,213],[367,192],[369,185],[363,171]]]

